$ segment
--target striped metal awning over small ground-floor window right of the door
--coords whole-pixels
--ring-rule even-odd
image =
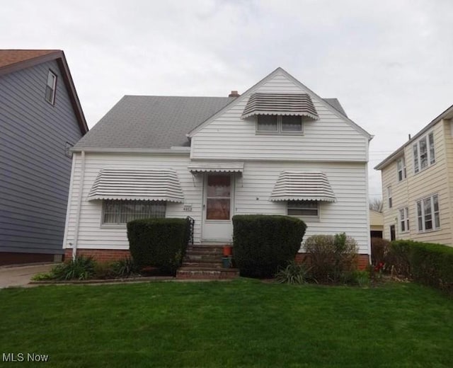
[[[336,197],[326,174],[321,171],[283,171],[275,183],[270,200],[335,202]]]

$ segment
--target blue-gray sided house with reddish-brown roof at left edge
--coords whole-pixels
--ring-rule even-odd
[[[88,131],[60,50],[0,50],[0,265],[62,258],[71,152]]]

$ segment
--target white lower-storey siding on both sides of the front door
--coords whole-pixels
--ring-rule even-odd
[[[81,156],[75,154],[74,179],[69,200],[67,238],[64,248],[74,242],[77,199],[79,196]],[[129,243],[125,229],[101,227],[102,201],[88,202],[86,197],[99,170],[109,168],[173,168],[183,188],[184,203],[166,204],[166,217],[195,219],[195,243],[201,238],[202,174],[188,171],[188,156],[153,156],[151,154],[86,154],[84,192],[81,203],[78,248],[127,249]],[[326,173],[336,202],[322,202],[319,219],[308,225],[304,240],[314,234],[346,234],[357,240],[360,253],[369,253],[369,224],[367,207],[366,163],[297,163],[294,161],[259,162],[246,161],[241,176],[235,176],[236,192],[231,211],[233,214],[287,214],[287,202],[270,201],[275,182],[282,170],[322,171]],[[185,212],[184,206],[191,205],[192,211]]]

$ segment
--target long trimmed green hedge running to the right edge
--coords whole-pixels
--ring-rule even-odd
[[[413,280],[453,294],[453,248],[408,242]]]

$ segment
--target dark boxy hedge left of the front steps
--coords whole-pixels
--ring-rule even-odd
[[[183,262],[190,236],[188,219],[139,219],[127,223],[134,262],[175,274]]]

